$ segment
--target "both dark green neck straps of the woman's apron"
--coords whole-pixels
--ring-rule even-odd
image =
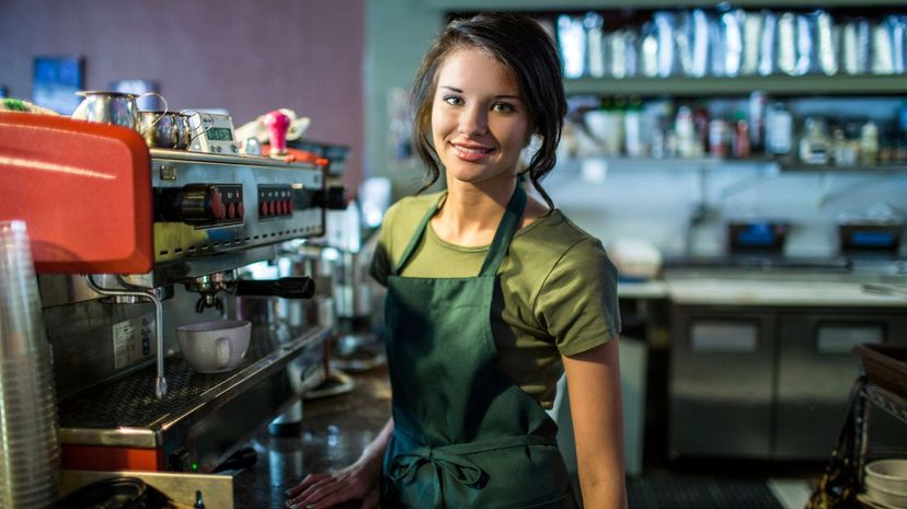
[[[397,262],[397,265],[394,265],[391,275],[398,276],[400,275],[400,271],[403,270],[403,267],[413,255],[416,245],[418,245],[418,242],[422,240],[422,235],[425,233],[425,228],[428,225],[428,221],[430,221],[432,217],[437,213],[438,205],[446,197],[446,193],[441,194],[434,207],[429,208],[422,218],[418,227],[416,227],[415,233],[412,238],[410,238],[410,243],[406,244],[406,248],[403,250],[403,255],[400,257],[400,261]],[[510,200],[507,203],[507,208],[504,210],[504,217],[501,218],[501,223],[498,223],[497,230],[494,232],[494,240],[492,240],[491,246],[489,247],[489,254],[485,256],[485,263],[482,265],[482,270],[479,273],[480,276],[494,276],[497,274],[497,268],[501,266],[501,262],[504,259],[504,255],[507,254],[507,248],[510,246],[510,240],[514,238],[514,233],[519,230],[524,208],[526,208],[526,192],[523,190],[523,187],[517,185]]]

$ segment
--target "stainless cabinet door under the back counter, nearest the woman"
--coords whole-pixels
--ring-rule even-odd
[[[773,334],[771,314],[675,309],[669,455],[769,456]]]

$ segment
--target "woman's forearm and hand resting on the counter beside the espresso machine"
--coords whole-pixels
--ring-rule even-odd
[[[393,418],[363,451],[356,463],[330,474],[309,474],[287,490],[287,507],[322,509],[360,500],[363,509],[377,508],[381,496],[381,463],[393,433]]]

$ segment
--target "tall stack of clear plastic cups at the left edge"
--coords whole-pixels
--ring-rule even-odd
[[[55,394],[25,223],[0,221],[0,508],[54,507]]]

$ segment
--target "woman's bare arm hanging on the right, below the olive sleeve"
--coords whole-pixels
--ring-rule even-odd
[[[618,340],[563,360],[583,507],[625,509]]]

